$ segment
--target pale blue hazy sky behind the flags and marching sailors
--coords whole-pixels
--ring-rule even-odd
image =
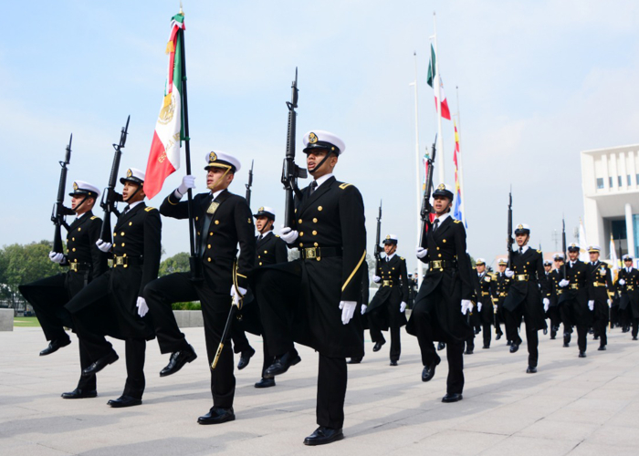
[[[239,194],[255,160],[253,209],[271,206],[281,220],[285,102],[298,67],[299,164],[305,132],[339,135],[346,149],[335,174],[363,195],[369,250],[382,200],[382,235],[398,236],[409,270],[418,224],[410,83],[416,53],[423,154],[437,130],[425,82],[434,12],[439,69],[458,116],[474,257],[505,252],[511,185],[514,223],[529,223],[531,244],[554,251],[562,214],[571,242],[583,210],[581,150],[639,138],[634,1],[192,0],[183,9],[196,190],[204,190],[210,150],[242,162],[230,188]],[[31,1],[11,10],[0,42],[0,245],[52,238],[58,161],[70,133],[68,189],[75,180],[106,186],[111,144],[128,115],[120,174],[146,168],[179,2]],[[453,126],[443,122],[437,153],[453,184]],[[183,174],[176,171],[149,203],[159,206]],[[188,251],[186,223],[162,223],[166,255]]]

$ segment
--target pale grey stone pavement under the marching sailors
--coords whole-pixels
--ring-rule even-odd
[[[260,349],[236,371],[236,421],[196,423],[212,405],[203,328],[184,330],[199,358],[159,378],[168,361],[156,341],[147,347],[147,389],[140,407],[110,409],[125,377],[120,360],[98,378],[96,399],[60,399],[79,376],[78,340],[39,358],[47,343],[37,327],[0,333],[0,454],[2,455],[610,455],[639,454],[639,342],[614,329],[608,350],[589,337],[588,358],[541,336],[539,373],[527,375],[526,344],[509,354],[504,340],[466,356],[464,400],[443,404],[445,359],[429,383],[414,337],[388,366],[388,347],[349,367],[346,438],[309,448],[315,424],[317,354],[301,347],[302,362],[272,389],[255,389]],[[575,335],[576,336],[576,335]],[[258,348],[260,341],[250,337]],[[576,339],[576,337],[573,337]],[[478,346],[480,339],[476,339]]]

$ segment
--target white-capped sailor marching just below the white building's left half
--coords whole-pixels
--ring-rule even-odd
[[[594,329],[595,338],[599,337],[599,350],[605,350],[608,344],[606,327],[610,317],[610,306],[613,303],[614,285],[613,275],[610,266],[599,261],[599,254],[602,248],[599,245],[590,245],[590,263],[588,264],[588,280],[592,283],[592,294],[594,296]]]

